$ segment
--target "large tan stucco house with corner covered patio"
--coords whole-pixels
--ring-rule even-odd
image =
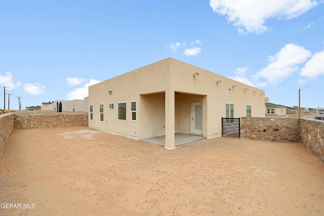
[[[89,127],[135,140],[221,137],[222,117],[264,117],[265,92],[168,58],[89,87]]]

